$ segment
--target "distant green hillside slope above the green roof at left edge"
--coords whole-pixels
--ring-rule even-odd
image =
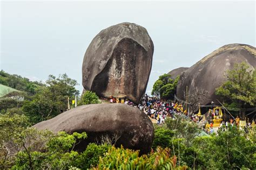
[[[30,81],[28,78],[18,76],[17,74],[9,74],[0,71],[0,84],[11,87],[19,91],[25,91],[29,94],[35,94],[35,89],[37,86],[42,86],[43,84],[38,81]]]

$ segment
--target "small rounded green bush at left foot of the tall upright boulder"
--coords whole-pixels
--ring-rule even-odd
[[[87,104],[98,104],[100,103],[99,97],[95,92],[86,91],[80,98],[78,105],[87,105]]]

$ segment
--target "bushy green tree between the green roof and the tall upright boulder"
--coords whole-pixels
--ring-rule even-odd
[[[71,101],[79,94],[76,85],[77,81],[66,74],[58,78],[50,75],[46,84],[36,89],[35,96],[24,101],[23,111],[34,124],[55,117],[68,109],[68,98]]]

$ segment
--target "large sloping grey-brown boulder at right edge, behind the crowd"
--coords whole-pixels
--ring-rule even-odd
[[[215,95],[215,89],[227,80],[225,72],[232,70],[235,63],[241,62],[246,62],[250,69],[254,70],[256,48],[246,44],[228,44],[220,47],[181,73],[177,97],[185,100],[186,86],[188,94],[198,87],[208,91],[208,98],[201,105],[210,104],[211,101],[218,104],[217,99],[220,100],[220,97]]]

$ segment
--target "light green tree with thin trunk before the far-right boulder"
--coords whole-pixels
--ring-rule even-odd
[[[256,103],[256,70],[242,62],[226,72],[227,81],[216,89],[216,94],[236,102],[240,108],[240,117],[244,118],[246,105]]]

